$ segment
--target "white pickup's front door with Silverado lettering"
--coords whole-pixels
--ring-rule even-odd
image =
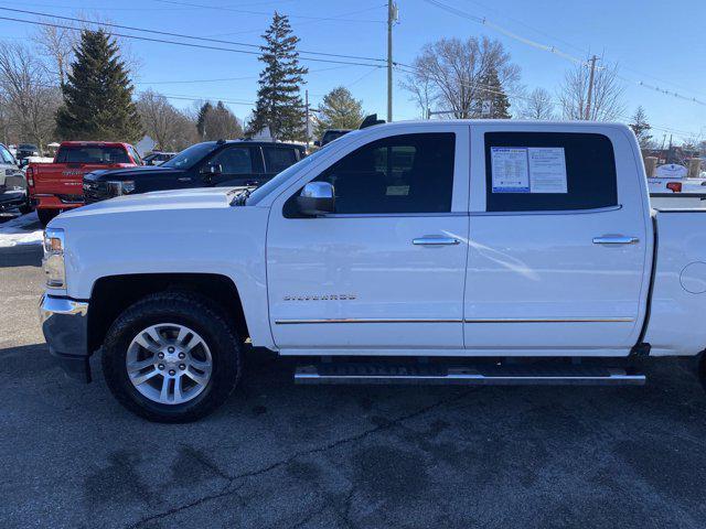
[[[300,181],[330,182],[334,214],[300,215],[300,185],[271,208],[269,317],[285,354],[463,347],[468,127],[381,136]]]

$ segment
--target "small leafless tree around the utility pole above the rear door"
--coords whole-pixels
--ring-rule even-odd
[[[613,121],[625,109],[623,102],[624,86],[618,78],[618,65],[597,66],[593,74],[590,108],[588,87],[590,69],[587,63],[576,65],[564,76],[559,91],[561,114],[565,119],[589,121]],[[586,116],[589,108],[589,115]]]

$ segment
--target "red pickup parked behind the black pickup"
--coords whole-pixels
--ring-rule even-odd
[[[64,209],[84,204],[83,176],[101,169],[141,165],[137,150],[128,143],[64,141],[54,163],[31,163],[26,170],[30,199],[43,226]]]

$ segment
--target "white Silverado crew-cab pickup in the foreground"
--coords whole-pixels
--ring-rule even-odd
[[[621,125],[366,128],[253,193],[64,213],[45,269],[51,352],[89,380],[100,349],[156,421],[222,403],[250,347],[309,384],[633,385],[706,347],[706,215],[650,207]]]

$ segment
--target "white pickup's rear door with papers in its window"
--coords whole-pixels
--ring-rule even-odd
[[[652,248],[632,143],[619,128],[534,129],[472,130],[466,347],[627,354]]]

